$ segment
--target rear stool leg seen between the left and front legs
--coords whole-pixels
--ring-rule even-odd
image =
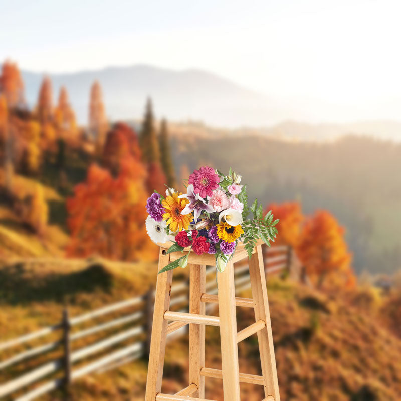
[[[205,315],[205,302],[200,297],[205,293],[206,266],[188,265],[189,267],[189,313]],[[192,395],[205,398],[205,377],[200,369],[205,367],[205,325],[189,324],[189,385],[196,384],[198,390]]]

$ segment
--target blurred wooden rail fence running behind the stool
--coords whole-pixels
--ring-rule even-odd
[[[265,271],[267,274],[283,273],[298,276],[297,266],[293,263],[292,249],[287,246],[275,246],[268,248],[263,246]],[[247,260],[243,260],[235,265],[235,283],[236,292],[250,288],[250,279],[248,273]],[[216,287],[216,269],[214,266],[207,267],[206,292],[208,294],[217,294]],[[181,280],[173,284],[171,288],[171,310],[188,311],[189,294],[188,281]],[[25,361],[34,361],[35,357],[46,356],[51,351],[59,351],[59,357],[51,359],[45,363],[36,364],[29,371],[23,372],[7,382],[0,379],[0,399],[13,399],[15,401],[30,401],[41,395],[48,393],[56,388],[64,388],[68,394],[68,388],[72,381],[95,371],[106,371],[120,366],[129,361],[146,356],[150,345],[150,335],[153,317],[153,299],[154,291],[150,288],[145,294],[127,299],[118,303],[104,306],[89,313],[71,317],[68,309],[62,311],[60,323],[45,327],[38,331],[23,335],[0,343],[0,372],[7,371],[12,366]],[[207,308],[213,309],[214,304],[208,304]],[[109,317],[100,324],[81,328],[79,331],[75,327],[85,322],[90,322],[103,316],[125,312],[122,316],[114,318]],[[86,323],[87,324],[87,323]],[[94,336],[116,330],[109,333],[108,336],[101,337],[95,342],[85,344],[83,347],[73,349],[74,342],[82,340],[85,337]],[[177,324],[169,330],[169,337],[182,335],[187,327]],[[52,334],[58,334],[58,340],[46,342],[42,345],[31,346],[24,350],[9,356],[7,359],[1,358],[2,351],[9,350],[12,347],[27,346],[30,342],[43,340]],[[134,341],[129,342],[129,341]],[[129,342],[127,344],[127,342]],[[121,348],[121,343],[124,346]],[[120,345],[119,348],[116,348]],[[105,353],[105,350],[108,350]],[[102,354],[97,359],[91,360],[90,357]],[[81,364],[75,367],[78,362]],[[84,364],[82,364],[84,363]],[[1,377],[1,374],[0,374]],[[26,391],[23,395],[22,391]]]

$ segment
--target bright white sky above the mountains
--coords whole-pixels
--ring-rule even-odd
[[[292,106],[314,104],[317,119],[399,119],[399,1],[0,0],[0,8],[0,61],[23,69],[198,68]]]

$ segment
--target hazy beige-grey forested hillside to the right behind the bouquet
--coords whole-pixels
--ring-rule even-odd
[[[181,176],[200,165],[232,167],[243,176],[250,199],[265,205],[298,200],[304,213],[333,213],[346,228],[357,272],[401,266],[401,177],[395,173],[401,170],[401,145],[357,136],[330,143],[225,133],[199,139],[190,132],[171,131]]]

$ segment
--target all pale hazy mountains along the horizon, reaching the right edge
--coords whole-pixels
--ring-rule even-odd
[[[33,107],[37,103],[43,74],[23,71],[22,75],[28,104]],[[75,73],[50,73],[49,76],[53,82],[55,102],[60,86],[67,87],[80,124],[87,123],[90,86],[98,80],[111,121],[140,118],[145,99],[151,96],[157,118],[166,117],[187,128],[195,124],[197,130],[202,127],[205,134],[227,131],[239,135],[252,133],[281,139],[326,141],[352,133],[401,140],[401,122],[397,121],[315,124],[289,119],[298,113],[291,110],[288,103],[198,69],[174,71],[134,65]]]

